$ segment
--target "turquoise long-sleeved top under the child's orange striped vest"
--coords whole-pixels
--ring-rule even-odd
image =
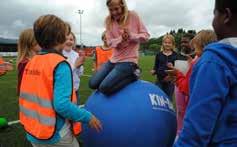
[[[71,79],[71,80],[68,80]],[[83,108],[71,103],[72,92],[72,74],[70,66],[66,62],[60,63],[55,69],[54,74],[54,100],[53,105],[57,112],[56,132],[49,140],[38,140],[37,138],[27,134],[27,139],[32,143],[54,144],[61,137],[60,130],[65,124],[65,120],[73,120],[75,122],[88,123],[92,114]]]

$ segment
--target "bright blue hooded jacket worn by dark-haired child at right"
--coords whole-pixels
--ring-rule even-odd
[[[208,45],[193,68],[175,147],[237,147],[237,45],[223,42]]]

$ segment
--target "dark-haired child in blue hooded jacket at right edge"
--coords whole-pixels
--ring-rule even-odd
[[[236,10],[235,0],[215,1],[213,28],[218,42],[207,45],[192,67],[189,103],[176,147],[237,145]],[[202,48],[205,41],[193,44]]]

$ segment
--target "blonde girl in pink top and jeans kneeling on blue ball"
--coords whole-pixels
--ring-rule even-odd
[[[139,45],[149,38],[147,29],[125,0],[107,0],[106,39],[112,57],[90,79],[89,86],[106,95],[115,93],[139,77]]]

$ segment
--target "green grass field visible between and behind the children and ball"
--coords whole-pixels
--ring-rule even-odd
[[[141,79],[154,82],[155,77],[150,75],[154,62],[154,56],[144,56],[140,58],[142,68]],[[85,63],[85,75],[91,75],[92,60],[87,59]],[[81,79],[80,96],[81,104],[84,104],[92,90],[88,87],[88,76]],[[18,98],[16,96],[17,75],[16,70],[0,77],[0,117],[9,121],[18,119]],[[31,147],[25,139],[22,127],[17,124],[8,128],[0,129],[0,147]]]

